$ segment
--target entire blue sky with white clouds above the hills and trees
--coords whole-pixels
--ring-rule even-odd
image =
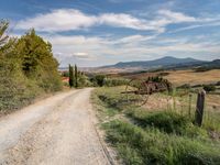
[[[34,28],[62,66],[220,58],[219,0],[2,0],[9,34]]]

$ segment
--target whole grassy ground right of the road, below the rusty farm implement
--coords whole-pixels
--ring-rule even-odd
[[[150,97],[146,106],[136,107],[128,102],[121,91],[124,87],[99,88],[91,99],[107,142],[124,164],[219,164],[218,101],[206,102],[204,124],[198,128],[193,124],[196,96],[193,96],[189,114],[187,97],[156,94]],[[207,100],[213,100],[217,96],[208,97]],[[218,108],[212,109],[212,103]]]

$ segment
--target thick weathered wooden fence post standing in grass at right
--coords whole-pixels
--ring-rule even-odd
[[[201,127],[204,118],[204,106],[205,106],[206,91],[201,90],[197,97],[195,124]]]

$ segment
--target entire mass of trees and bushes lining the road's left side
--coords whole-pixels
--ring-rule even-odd
[[[42,94],[62,89],[52,45],[30,30],[9,37],[9,23],[0,22],[0,112],[29,105]]]

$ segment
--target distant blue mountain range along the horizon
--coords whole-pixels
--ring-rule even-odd
[[[154,61],[140,62],[120,62],[114,65],[101,66],[95,68],[80,68],[85,72],[94,73],[132,73],[140,70],[155,70],[155,69],[182,69],[182,68],[201,68],[202,69],[220,69],[220,59],[212,62],[199,61],[195,58],[176,58],[165,56]]]

